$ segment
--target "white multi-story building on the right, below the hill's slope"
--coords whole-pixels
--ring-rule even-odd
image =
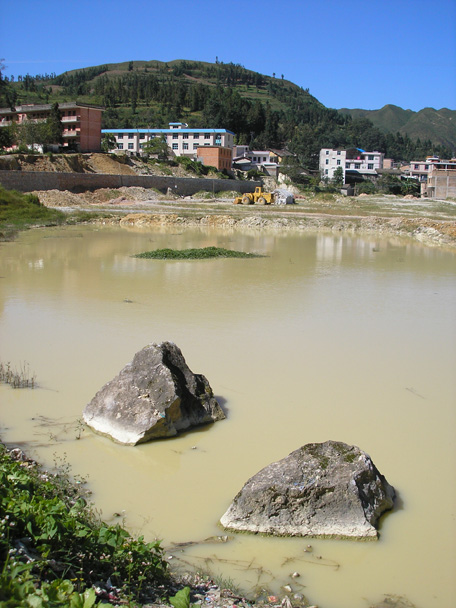
[[[320,173],[323,178],[333,179],[338,167],[342,168],[344,182],[347,171],[363,176],[376,175],[377,169],[383,168],[382,152],[366,152],[361,148],[320,150]]]

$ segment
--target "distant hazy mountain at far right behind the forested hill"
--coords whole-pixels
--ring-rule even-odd
[[[380,110],[342,108],[339,112],[352,118],[367,118],[383,133],[401,133],[414,140],[430,140],[456,152],[456,110],[424,108],[413,112],[388,104]]]

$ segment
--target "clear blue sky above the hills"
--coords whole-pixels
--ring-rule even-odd
[[[239,63],[325,106],[456,109],[456,0],[0,0],[6,76]]]

